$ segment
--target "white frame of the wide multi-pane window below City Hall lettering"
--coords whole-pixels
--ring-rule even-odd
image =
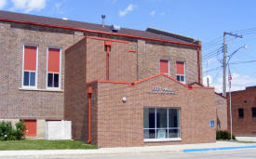
[[[182,140],[182,119],[181,119],[181,108],[178,108],[178,107],[167,107],[167,108],[164,108],[164,107],[143,107],[143,112],[144,112],[144,109],[155,109],[155,128],[144,128],[144,121],[143,121],[143,140],[144,142],[150,142],[150,141],[173,141],[173,140]],[[169,127],[168,126],[168,123],[169,123],[169,120],[167,121],[167,127],[166,128],[157,128],[157,112],[156,110],[157,109],[167,109],[167,119],[168,119],[168,113],[169,113],[169,110],[170,109],[173,109],[173,110],[178,110],[178,115],[179,115],[179,127]],[[143,113],[143,120],[144,120],[144,113]],[[150,129],[154,129],[155,130],[155,139],[144,139],[144,130],[150,130]],[[178,129],[179,130],[179,138],[166,138],[166,139],[157,139],[157,130],[159,129],[167,129],[167,134],[168,134],[168,131],[170,129]]]

